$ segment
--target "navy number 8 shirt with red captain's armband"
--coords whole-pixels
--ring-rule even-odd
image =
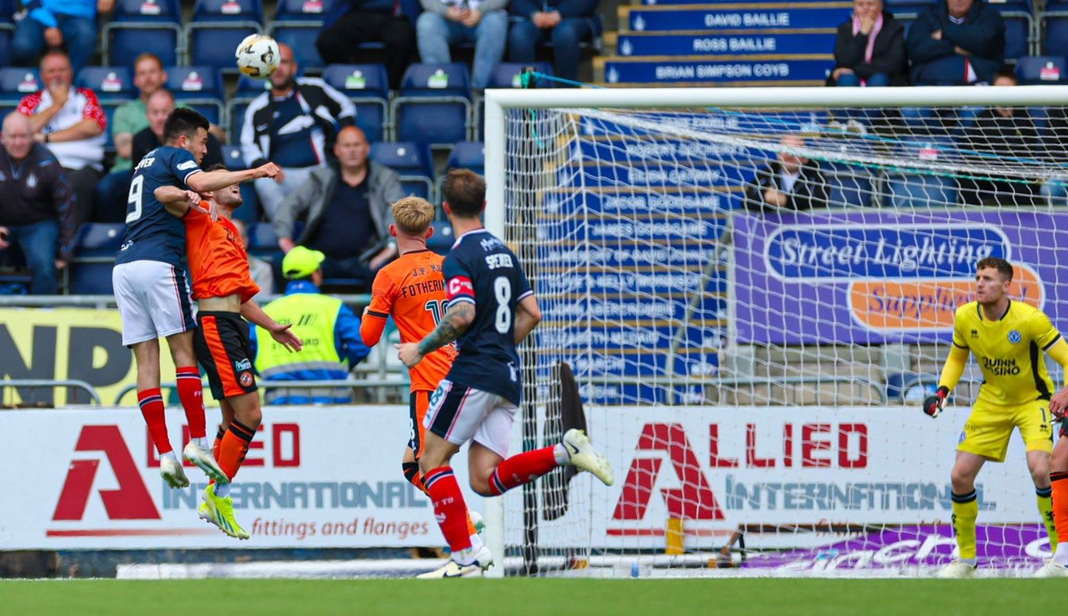
[[[474,304],[474,321],[456,346],[449,380],[498,394],[516,405],[522,393],[516,352],[516,304],[533,294],[519,258],[480,228],[461,235],[442,265],[449,305]]]

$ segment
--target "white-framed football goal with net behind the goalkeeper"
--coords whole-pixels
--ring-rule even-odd
[[[616,477],[506,494],[509,574],[952,559],[978,367],[937,420],[920,400],[984,256],[1068,328],[1068,89],[851,90],[487,93],[487,224],[544,315],[513,451],[584,417]],[[1024,457],[978,478],[993,574],[1049,554]]]

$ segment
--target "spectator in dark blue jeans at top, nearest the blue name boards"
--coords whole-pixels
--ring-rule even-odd
[[[534,62],[537,47],[552,41],[556,77],[578,79],[579,44],[600,35],[597,0],[512,0],[511,9],[508,58]]]

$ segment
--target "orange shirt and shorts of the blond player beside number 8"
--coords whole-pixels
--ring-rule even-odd
[[[445,314],[445,257],[429,250],[406,252],[378,270],[371,287],[371,306],[360,325],[363,344],[374,346],[382,335],[386,318],[393,316],[400,342],[418,343],[426,337]],[[423,358],[409,370],[411,391],[438,388],[456,359],[456,345],[449,344]]]

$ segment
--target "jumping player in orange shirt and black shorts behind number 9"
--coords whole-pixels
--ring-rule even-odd
[[[222,425],[214,449],[224,480],[209,484],[204,490],[200,517],[231,537],[248,539],[249,533],[234,519],[230,481],[245,461],[263,413],[252,374],[249,326],[241,317],[269,331],[290,351],[300,350],[301,341],[289,331],[292,326],[279,325],[252,300],[260,287],[249,273],[241,234],[230,220],[241,205],[236,184],[210,193],[211,211],[219,214],[218,220],[199,206],[201,199],[195,192],[163,186],[156,189],[155,196],[186,225],[198,309],[193,345],[211,384],[211,395],[222,408]]]

